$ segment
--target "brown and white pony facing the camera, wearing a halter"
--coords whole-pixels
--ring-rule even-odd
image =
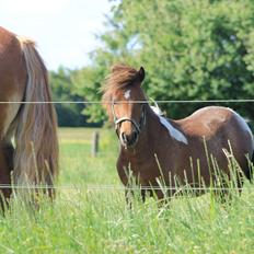
[[[190,186],[211,186],[218,169],[230,177],[231,151],[240,173],[251,180],[247,158],[253,157],[254,141],[239,114],[227,107],[208,106],[184,119],[168,119],[159,108],[149,106],[141,89],[143,79],[142,67],[137,71],[119,65],[113,68],[104,85],[103,102],[120,141],[117,171],[125,185],[128,186],[130,171],[141,186],[143,200],[147,186],[154,188],[152,194],[159,199],[165,197],[158,181],[162,177],[163,184],[173,188],[175,177]],[[215,170],[212,162],[217,165]],[[238,174],[236,178],[240,187],[242,176]]]

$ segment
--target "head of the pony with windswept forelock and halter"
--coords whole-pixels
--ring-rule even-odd
[[[125,148],[134,148],[146,125],[147,100],[141,89],[145,69],[114,66],[104,85],[103,102]]]

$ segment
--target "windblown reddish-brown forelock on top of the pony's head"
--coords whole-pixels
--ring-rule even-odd
[[[132,67],[116,65],[112,67],[111,74],[103,86],[103,101],[109,101],[112,93],[134,83],[138,78],[138,71]]]

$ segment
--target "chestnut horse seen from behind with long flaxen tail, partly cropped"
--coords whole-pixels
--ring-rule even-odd
[[[12,171],[14,185],[53,185],[58,172],[58,141],[50,101],[47,70],[34,42],[0,27],[1,185],[11,184]],[[0,189],[3,206],[11,188]]]

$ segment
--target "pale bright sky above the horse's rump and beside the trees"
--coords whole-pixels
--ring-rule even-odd
[[[100,45],[108,0],[0,0],[0,25],[32,37],[48,69],[80,68]]]

